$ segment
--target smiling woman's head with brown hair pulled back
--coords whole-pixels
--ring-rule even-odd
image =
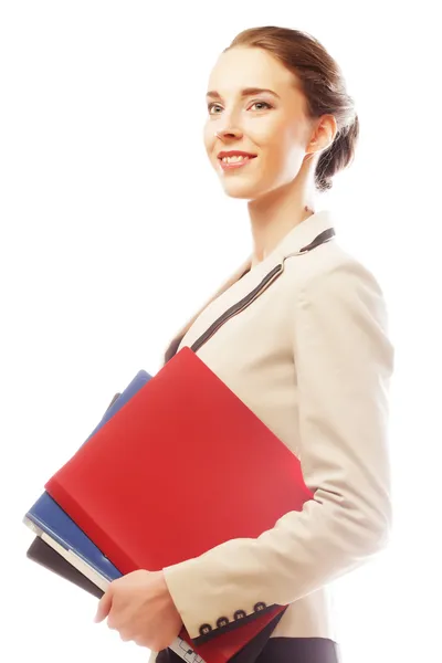
[[[204,143],[211,161],[221,175],[248,166],[240,179],[222,177],[229,196],[253,198],[288,183],[311,159],[316,188],[326,191],[351,162],[358,116],[337,63],[313,36],[283,28],[245,30],[221,54],[209,88]],[[328,139],[320,152],[314,129]],[[217,152],[220,143],[231,149]],[[227,167],[229,155],[240,154],[259,158]]]

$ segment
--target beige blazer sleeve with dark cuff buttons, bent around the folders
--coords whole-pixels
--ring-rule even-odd
[[[292,296],[299,460],[314,493],[257,539],[166,567],[190,638],[235,611],[286,606],[360,566],[390,534],[388,398],[394,350],[382,293],[356,260]],[[204,638],[206,640],[208,638]]]

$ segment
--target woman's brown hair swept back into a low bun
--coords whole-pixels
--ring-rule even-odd
[[[345,78],[336,61],[317,39],[290,28],[250,28],[236,34],[231,44],[269,51],[301,81],[312,119],[334,115],[337,133],[333,144],[319,157],[315,170],[318,191],[332,189],[333,177],[355,158],[359,136],[359,119],[354,99],[346,90]]]

